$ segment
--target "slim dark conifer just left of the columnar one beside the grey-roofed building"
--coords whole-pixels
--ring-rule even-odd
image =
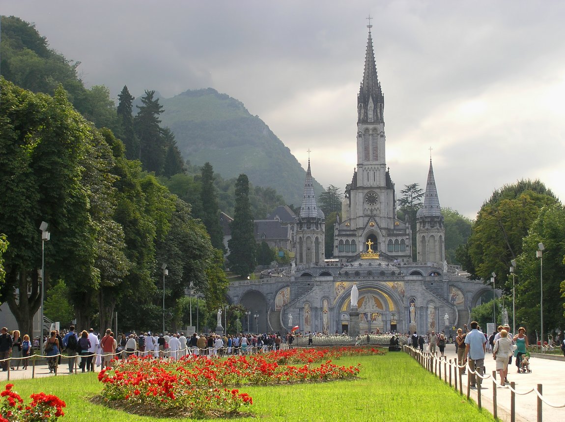
[[[200,191],[202,199],[202,222],[210,235],[212,246],[224,250],[224,234],[220,225],[220,208],[218,206],[218,195],[214,186],[214,169],[207,162],[202,166],[202,188]]]

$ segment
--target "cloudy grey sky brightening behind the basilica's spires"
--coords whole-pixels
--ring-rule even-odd
[[[367,16],[397,192],[474,218],[495,188],[541,179],[565,199],[565,2],[19,1],[87,86],[172,97],[212,87],[257,114],[324,186],[356,165]]]

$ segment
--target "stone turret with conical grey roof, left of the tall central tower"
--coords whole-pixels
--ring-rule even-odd
[[[296,264],[320,264],[324,261],[325,216],[316,204],[314,181],[308,160],[300,213],[295,222]]]

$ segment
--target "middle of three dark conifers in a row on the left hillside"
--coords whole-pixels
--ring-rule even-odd
[[[161,134],[159,114],[163,113],[163,106],[159,98],[154,98],[155,91],[145,91],[141,97],[141,106],[134,118],[134,129],[140,140],[140,158],[143,169],[153,171],[159,175],[163,171],[165,161],[165,144]]]

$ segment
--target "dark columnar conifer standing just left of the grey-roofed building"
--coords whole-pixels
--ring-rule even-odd
[[[240,174],[236,182],[236,207],[228,240],[228,261],[232,272],[247,277],[255,269],[255,235],[249,204],[249,179]]]

